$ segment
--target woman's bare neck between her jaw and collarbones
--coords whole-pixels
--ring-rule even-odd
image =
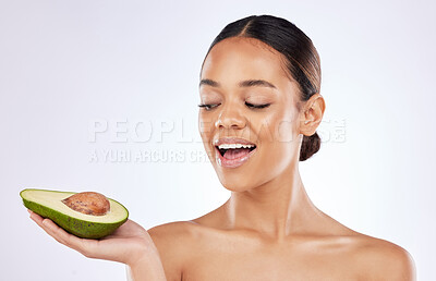
[[[275,240],[307,232],[322,219],[310,200],[298,164],[245,192],[232,192],[225,204],[229,229],[252,230]]]

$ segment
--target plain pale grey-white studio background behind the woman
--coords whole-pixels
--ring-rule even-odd
[[[351,3],[352,2],[352,3]],[[435,4],[432,1],[1,1],[0,280],[124,280],[121,264],[58,244],[25,187],[96,191],[154,225],[229,192],[197,132],[198,74],[223,26],[286,17],[320,54],[310,197],[344,225],[408,249],[436,280]]]

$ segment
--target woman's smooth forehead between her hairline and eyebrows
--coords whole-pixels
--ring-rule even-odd
[[[242,80],[289,82],[281,53],[254,38],[231,37],[214,46],[207,54],[201,78],[237,84]]]

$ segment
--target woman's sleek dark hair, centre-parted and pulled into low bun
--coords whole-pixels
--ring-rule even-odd
[[[214,39],[207,53],[219,41],[230,37],[258,39],[286,58],[286,66],[300,87],[298,110],[314,94],[320,90],[319,56],[312,40],[293,23],[272,15],[251,15],[228,24]],[[203,66],[202,66],[203,69]],[[315,132],[303,136],[300,161],[304,161],[319,150],[320,138]]]

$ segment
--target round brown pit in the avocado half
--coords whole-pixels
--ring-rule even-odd
[[[71,209],[92,216],[105,216],[110,211],[110,203],[105,195],[96,192],[76,193],[62,200]]]

